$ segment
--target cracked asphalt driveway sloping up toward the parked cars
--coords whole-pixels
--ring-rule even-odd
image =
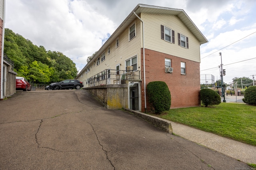
[[[247,164],[170,135],[86,90],[0,101],[0,169],[234,170]]]

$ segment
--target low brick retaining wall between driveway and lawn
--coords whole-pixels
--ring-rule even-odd
[[[172,125],[171,125],[171,121],[159,118],[159,117],[155,117],[152,115],[148,115],[139,111],[134,111],[134,110],[130,110],[130,109],[125,109],[129,112],[132,112],[134,115],[137,115],[138,117],[141,117],[142,119],[148,121],[149,123],[155,125],[156,127],[172,134]]]

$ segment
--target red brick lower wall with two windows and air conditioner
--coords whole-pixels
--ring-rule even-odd
[[[141,50],[141,56],[143,51]],[[172,61],[172,73],[165,72],[165,58]],[[143,75],[143,57],[142,80]],[[180,62],[186,63],[186,75],[180,73]],[[145,49],[146,84],[164,81],[171,92],[171,108],[200,106],[200,63]],[[142,111],[144,112],[144,82],[142,81]],[[147,110],[150,104],[147,97]]]

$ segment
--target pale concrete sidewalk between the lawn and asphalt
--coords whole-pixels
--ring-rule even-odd
[[[204,132],[186,125],[171,122],[175,135],[226,154],[237,160],[256,164],[256,147],[247,145],[228,138],[220,137],[213,133]]]

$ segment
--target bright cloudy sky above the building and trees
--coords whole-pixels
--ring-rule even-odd
[[[138,4],[188,14],[209,41],[200,47],[200,74],[220,79],[221,52],[224,82],[251,75],[256,80],[255,0],[6,0],[5,27],[46,50],[62,52],[82,70],[87,57]]]

